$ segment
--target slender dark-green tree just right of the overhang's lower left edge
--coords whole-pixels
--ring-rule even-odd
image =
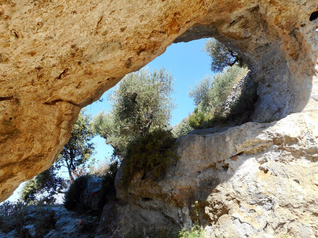
[[[82,109],[74,124],[70,140],[64,145],[56,160],[57,167],[67,168],[71,182],[76,177],[86,174],[85,167],[94,153],[92,140],[94,133],[90,127],[91,117]]]

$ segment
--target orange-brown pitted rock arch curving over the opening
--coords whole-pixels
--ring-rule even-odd
[[[314,110],[317,3],[0,0],[0,200],[53,163],[81,107],[173,42],[241,52],[258,75],[254,121]]]

